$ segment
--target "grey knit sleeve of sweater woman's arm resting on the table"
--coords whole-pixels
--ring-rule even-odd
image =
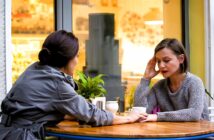
[[[177,111],[158,112],[158,121],[199,121],[204,108],[204,86],[200,79],[192,79],[188,87],[188,107]]]

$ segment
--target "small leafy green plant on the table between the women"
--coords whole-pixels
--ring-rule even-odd
[[[107,93],[103,87],[103,74],[90,77],[86,76],[83,72],[78,71],[77,75],[79,76],[79,79],[75,80],[78,85],[77,93],[86,99],[100,97]]]

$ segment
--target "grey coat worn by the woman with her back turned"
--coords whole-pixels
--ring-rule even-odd
[[[43,123],[56,124],[65,114],[94,126],[111,125],[112,113],[88,103],[75,87],[72,77],[58,69],[32,64],[2,102],[0,140],[34,139],[32,129],[42,128]]]

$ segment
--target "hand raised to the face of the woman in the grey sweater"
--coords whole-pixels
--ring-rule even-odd
[[[146,70],[144,72],[143,77],[145,79],[150,80],[159,73],[159,70],[158,71],[155,70],[155,65],[156,65],[156,59],[155,57],[152,57],[152,59],[150,59],[149,62],[147,63]]]

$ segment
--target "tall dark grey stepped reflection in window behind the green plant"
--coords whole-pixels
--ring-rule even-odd
[[[120,97],[124,101],[119,64],[119,41],[114,38],[114,14],[89,14],[89,38],[86,40],[85,72],[94,75],[105,74],[107,100]],[[123,108],[120,108],[123,110]]]

